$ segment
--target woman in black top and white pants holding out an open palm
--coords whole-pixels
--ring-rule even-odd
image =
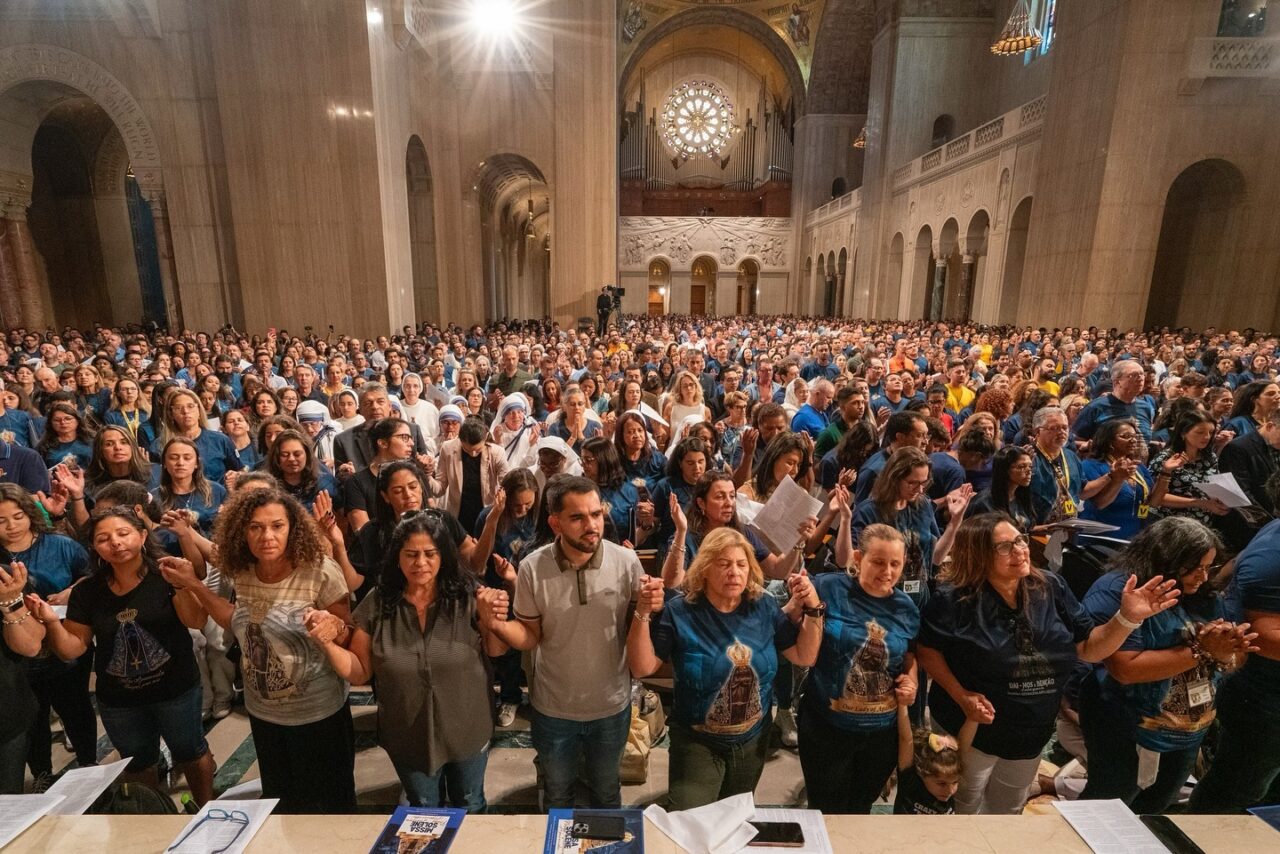
[[[960,525],[951,567],[920,611],[915,648],[933,680],[933,721],[951,734],[965,720],[986,725],[965,758],[957,813],[1021,810],[1076,661],[1115,653],[1143,620],[1176,604],[1175,585],[1125,577],[1115,616],[1094,626],[1061,576],[1032,566],[1010,516]]]

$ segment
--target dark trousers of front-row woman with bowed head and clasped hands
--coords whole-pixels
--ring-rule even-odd
[[[1080,799],[1117,798],[1139,816],[1165,812],[1196,768],[1199,745],[1161,753],[1156,780],[1139,789],[1138,745],[1129,735],[1129,723],[1103,705],[1097,680],[1091,682],[1080,690],[1080,726],[1089,757],[1089,781]]]

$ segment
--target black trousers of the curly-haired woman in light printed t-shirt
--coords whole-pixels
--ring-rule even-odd
[[[248,716],[262,775],[262,796],[279,798],[278,813],[356,810],[356,735],[351,708],[315,723],[284,726]]]

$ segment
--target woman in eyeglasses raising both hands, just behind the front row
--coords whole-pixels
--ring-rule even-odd
[[[872,487],[870,498],[858,502],[854,510],[851,542],[859,542],[863,529],[876,522],[896,528],[906,539],[906,562],[901,588],[916,604],[929,598],[933,567],[941,566],[951,552],[951,542],[964,520],[973,487],[964,484],[946,495],[951,513],[947,526],[938,528],[929,489],[929,458],[919,448],[899,448],[884,463]],[[836,561],[849,566],[851,556],[837,540]]]

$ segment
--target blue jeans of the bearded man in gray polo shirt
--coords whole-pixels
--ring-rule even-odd
[[[631,731],[631,705],[617,714],[594,721],[568,721],[534,709],[532,741],[543,769],[548,809],[572,808],[579,758],[586,755],[586,786],[590,805],[612,809],[622,805],[618,763]]]

